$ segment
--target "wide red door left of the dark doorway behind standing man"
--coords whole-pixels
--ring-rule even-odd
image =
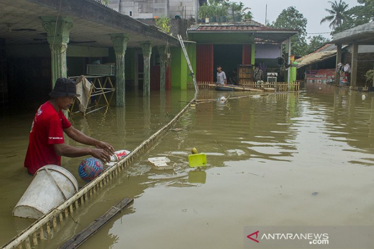
[[[213,82],[213,44],[196,46],[196,81]]]

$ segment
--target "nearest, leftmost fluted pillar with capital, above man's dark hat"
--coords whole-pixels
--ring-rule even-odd
[[[58,19],[56,16],[42,16],[41,20],[43,20],[41,25],[47,31],[47,41],[51,50],[52,87],[54,87],[57,78],[67,77],[66,51],[73,22],[65,16],[59,16]]]

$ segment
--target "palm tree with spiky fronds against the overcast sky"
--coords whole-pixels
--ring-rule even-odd
[[[342,0],[340,0],[339,3],[336,0],[334,2],[328,2],[331,4],[331,9],[325,9],[325,11],[327,11],[330,15],[323,17],[321,24],[325,21],[331,21],[329,27],[330,29],[335,30],[335,28],[341,26],[344,21],[350,19],[350,16],[347,13],[348,4],[342,2]]]

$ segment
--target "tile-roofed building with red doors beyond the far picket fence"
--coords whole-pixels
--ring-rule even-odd
[[[187,32],[189,40],[197,43],[196,79],[207,82],[216,81],[217,65],[227,77],[238,64],[264,63],[267,72],[279,71],[277,58],[282,56],[282,43],[298,33],[256,21],[196,24]],[[288,49],[290,43],[287,45]]]

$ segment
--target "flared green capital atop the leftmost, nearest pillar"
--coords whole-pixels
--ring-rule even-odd
[[[41,16],[40,19],[43,21],[41,25],[47,31],[48,43],[67,46],[73,21],[66,16],[59,16],[58,19],[57,16]]]

